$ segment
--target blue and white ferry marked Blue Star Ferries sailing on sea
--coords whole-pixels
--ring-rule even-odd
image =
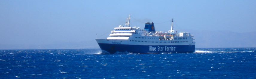
[[[156,31],[154,23],[146,23],[144,29],[130,27],[130,16],[126,27],[115,27],[107,39],[96,39],[103,50],[114,54],[116,52],[129,52],[141,54],[158,53],[191,53],[195,52],[195,39],[188,32],[175,32],[173,19],[171,30],[168,32]]]

